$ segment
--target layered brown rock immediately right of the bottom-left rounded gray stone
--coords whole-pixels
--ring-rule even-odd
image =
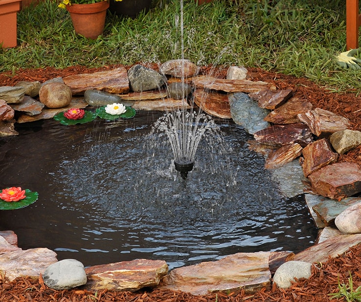
[[[98,290],[137,291],[143,287],[154,287],[168,273],[168,265],[163,260],[136,259],[85,269],[88,282],[85,288]]]

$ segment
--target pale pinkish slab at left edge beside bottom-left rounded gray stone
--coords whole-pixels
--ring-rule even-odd
[[[39,277],[57,261],[56,253],[46,248],[6,252],[0,254],[0,274],[5,274],[9,281],[23,276]]]

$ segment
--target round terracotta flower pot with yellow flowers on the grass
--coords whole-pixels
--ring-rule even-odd
[[[103,33],[109,1],[66,5],[75,32],[95,40]]]

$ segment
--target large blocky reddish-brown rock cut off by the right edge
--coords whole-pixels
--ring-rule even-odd
[[[318,194],[334,200],[361,192],[361,167],[356,163],[341,162],[327,165],[308,178]]]

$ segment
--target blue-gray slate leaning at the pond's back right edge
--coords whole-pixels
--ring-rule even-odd
[[[233,121],[242,125],[248,133],[254,134],[270,126],[263,120],[270,110],[258,107],[258,103],[251,100],[247,94],[231,93],[228,95],[228,101]]]

